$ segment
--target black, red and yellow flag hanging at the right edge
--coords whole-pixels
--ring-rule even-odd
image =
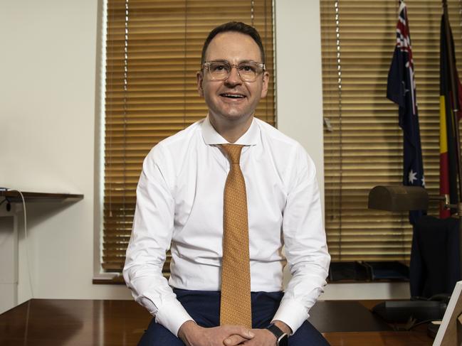
[[[453,92],[451,86],[451,72],[449,68],[449,49],[454,55],[454,44],[451,27],[449,30],[449,38],[446,37],[446,21],[445,14],[441,17],[441,43],[440,43],[440,180],[439,191],[440,195],[446,196],[451,204],[457,204],[457,151],[456,151],[456,136],[453,117],[453,102],[452,97],[456,94],[459,99],[459,104],[462,104],[462,87],[458,79],[456,70],[456,59],[453,58],[454,78],[456,79],[456,92]],[[449,40],[449,42],[448,42]],[[461,112],[458,112],[458,119],[461,119]],[[451,216],[456,210],[440,209],[439,215],[441,219]]]

